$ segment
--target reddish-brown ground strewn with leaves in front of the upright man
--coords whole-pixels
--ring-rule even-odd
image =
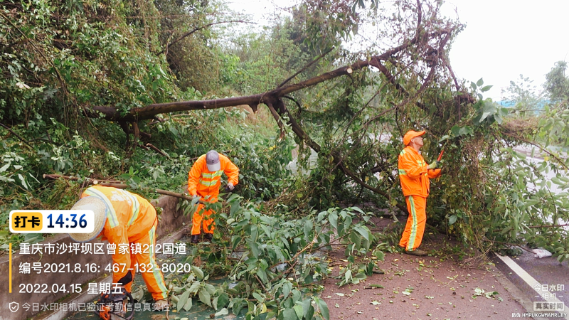
[[[330,319],[506,319],[526,312],[498,281],[503,274],[489,260],[465,263],[469,255],[464,255],[459,261],[452,255],[457,249],[450,251],[456,245],[445,235],[426,233],[420,248],[430,256],[385,252],[377,263],[385,274],[344,287],[334,279],[348,265],[344,252],[329,252],[332,277],[324,282],[321,298]]]

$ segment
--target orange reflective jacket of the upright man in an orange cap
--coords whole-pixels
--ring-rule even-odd
[[[429,170],[425,159],[412,146],[406,146],[399,154],[399,181],[403,196],[429,195],[429,178],[440,176],[440,169]]]

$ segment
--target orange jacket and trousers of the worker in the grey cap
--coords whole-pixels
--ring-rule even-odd
[[[211,203],[218,201],[219,186],[221,185],[221,175],[225,172],[228,176],[228,183],[237,186],[239,182],[239,169],[231,160],[219,154],[220,169],[218,171],[209,171],[206,163],[206,155],[203,154],[196,160],[188,174],[188,193],[190,195],[198,195],[202,201]],[[213,210],[203,212],[203,204],[199,204],[195,213],[193,213],[191,234],[199,235],[201,233],[201,225],[203,223],[204,233],[213,233],[216,229],[216,223],[211,218]]]

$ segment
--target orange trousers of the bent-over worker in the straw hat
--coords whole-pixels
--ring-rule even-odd
[[[132,268],[132,270],[129,272],[132,274],[132,279],[134,280],[134,272],[137,270],[135,265],[138,264],[138,270],[142,274],[144,283],[147,284],[148,291],[152,294],[152,298],[158,301],[167,298],[166,294],[168,289],[166,289],[166,283],[164,283],[164,276],[162,275],[160,267],[156,265],[156,255],[154,254],[154,247],[156,247],[156,225],[157,223],[154,223],[146,235],[135,241],[141,245],[143,250],[142,253],[130,254],[129,268]],[[149,245],[149,250],[145,250],[145,245]],[[118,280],[119,279],[113,279],[113,282],[117,282]],[[134,281],[124,286],[127,292],[131,292],[132,282]]]

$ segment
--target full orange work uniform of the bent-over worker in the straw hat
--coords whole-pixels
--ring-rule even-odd
[[[107,206],[107,220],[99,236],[116,245],[112,262],[118,272],[112,273],[112,282],[124,284],[130,292],[138,269],[154,300],[166,299],[168,289],[154,255],[158,219],[151,203],[137,194],[105,186],[87,188],[81,198],[88,196],[100,198]],[[132,250],[131,244],[140,244],[140,250]]]

